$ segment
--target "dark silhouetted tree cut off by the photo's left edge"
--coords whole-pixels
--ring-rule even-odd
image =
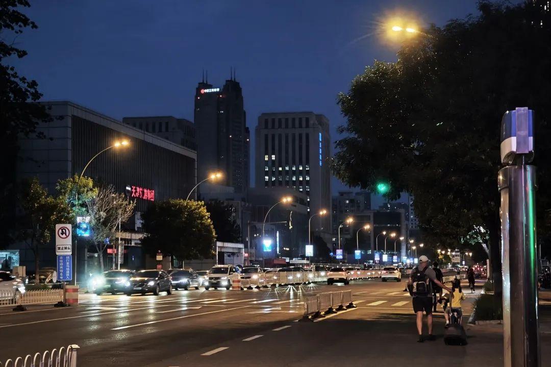
[[[34,21],[19,12],[18,6],[30,7],[30,4],[26,0],[0,0],[0,143],[4,152],[0,164],[0,200],[3,203],[0,210],[0,244],[8,244],[12,240],[6,234],[16,225],[18,138],[34,134],[39,122],[52,121],[45,106],[32,103],[42,97],[36,81],[19,75],[13,66],[6,63],[10,57],[23,58],[27,55],[26,51],[15,46],[15,40],[25,28],[37,28]],[[8,43],[8,39],[12,41]]]

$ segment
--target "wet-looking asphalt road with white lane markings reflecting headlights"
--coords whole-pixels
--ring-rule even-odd
[[[78,344],[79,367],[411,362],[419,350],[429,353],[435,346],[444,348],[444,343],[426,342],[418,348],[404,284],[371,279],[348,286],[180,290],[170,296],[81,294],[77,307],[34,306],[20,313],[0,307],[0,360]],[[356,309],[316,322],[296,322],[302,316],[304,295],[342,289],[353,290]],[[472,300],[468,293],[467,297]],[[466,316],[471,312],[468,304]],[[435,324],[435,333],[442,334],[442,312]],[[493,346],[492,355],[499,355],[501,339],[494,334],[486,339]],[[469,347],[456,349],[461,351],[457,358],[480,362],[479,349],[489,346]]]

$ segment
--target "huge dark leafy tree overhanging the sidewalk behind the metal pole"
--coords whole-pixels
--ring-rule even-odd
[[[544,77],[551,68],[551,14],[542,9],[482,1],[478,17],[430,26],[403,44],[397,62],[376,61],[338,97],[347,118],[339,132],[347,137],[336,144],[337,177],[371,191],[376,182],[390,182],[388,198],[412,193],[425,243],[461,249],[461,239],[482,228],[498,293],[504,111],[536,110],[539,187],[551,180],[551,78]],[[538,192],[543,223],[550,199],[545,189]]]

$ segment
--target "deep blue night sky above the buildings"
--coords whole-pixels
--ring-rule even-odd
[[[221,87],[235,67],[251,137],[262,112],[314,111],[335,140],[344,122],[337,93],[375,59],[396,60],[399,44],[379,35],[385,19],[407,13],[442,25],[477,10],[476,0],[31,0],[25,13],[39,29],[17,39],[29,55],[8,62],[37,80],[45,100],[117,119],[193,121],[202,69]],[[333,179],[334,193],[345,188]]]

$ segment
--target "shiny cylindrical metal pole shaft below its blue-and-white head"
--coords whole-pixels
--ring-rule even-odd
[[[505,367],[541,366],[538,331],[536,167],[499,170]],[[513,316],[514,315],[514,316]]]

